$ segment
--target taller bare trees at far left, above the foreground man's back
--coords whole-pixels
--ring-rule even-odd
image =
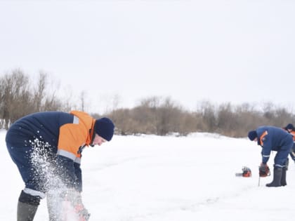
[[[0,78],[1,126],[7,129],[10,123],[32,112],[67,109],[55,95],[55,90],[46,93],[47,74],[40,72],[37,86],[32,88],[32,85],[20,69]]]

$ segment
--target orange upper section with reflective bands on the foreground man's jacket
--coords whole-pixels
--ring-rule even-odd
[[[70,114],[74,115],[73,123],[60,127],[58,154],[79,163],[81,158],[79,148],[91,145],[96,119],[85,112],[72,111]]]

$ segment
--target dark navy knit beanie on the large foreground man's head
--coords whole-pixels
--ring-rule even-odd
[[[114,123],[107,117],[103,117],[96,120],[94,125],[94,130],[100,137],[110,141],[112,140],[112,135],[114,135]]]

